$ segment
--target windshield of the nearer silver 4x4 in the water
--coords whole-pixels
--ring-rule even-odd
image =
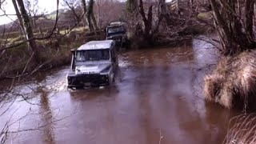
[[[78,50],[76,52],[77,62],[99,61],[110,59],[109,50]]]

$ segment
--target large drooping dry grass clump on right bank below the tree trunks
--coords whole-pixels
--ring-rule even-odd
[[[226,108],[256,108],[256,51],[246,51],[224,58],[217,70],[205,78],[207,101]]]

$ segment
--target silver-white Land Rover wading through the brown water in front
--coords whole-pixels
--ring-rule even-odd
[[[87,42],[71,52],[71,70],[67,74],[69,88],[108,86],[114,82],[118,55],[113,40]]]

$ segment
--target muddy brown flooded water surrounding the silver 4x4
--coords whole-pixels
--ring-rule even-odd
[[[69,66],[17,86],[0,128],[6,143],[221,143],[234,111],[206,103],[203,77],[217,54],[210,43],[120,54],[115,86],[67,90]]]

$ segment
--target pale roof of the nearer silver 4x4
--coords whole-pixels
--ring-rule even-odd
[[[78,50],[102,50],[102,49],[111,49],[114,45],[113,40],[104,40],[104,41],[90,41],[86,44],[83,44],[78,48]]]

